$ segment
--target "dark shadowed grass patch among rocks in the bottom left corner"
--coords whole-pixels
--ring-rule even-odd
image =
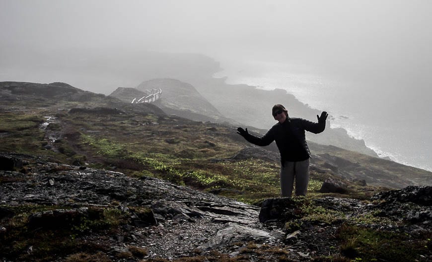
[[[54,261],[59,256],[78,252],[106,252],[81,237],[117,230],[119,225],[127,222],[127,216],[117,208],[89,207],[85,213],[58,217],[48,213],[37,220],[30,215],[59,207],[27,205],[7,208],[14,214],[3,221],[6,230],[0,234],[0,253],[17,261]],[[31,252],[28,252],[30,247]]]

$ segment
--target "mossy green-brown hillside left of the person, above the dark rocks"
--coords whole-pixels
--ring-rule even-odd
[[[98,95],[85,102],[71,96],[43,105],[38,100],[3,101],[1,151],[163,178],[246,202],[279,196],[278,158],[260,156],[253,147],[249,155],[233,159],[250,146],[235,127],[194,122],[165,115],[153,105]],[[329,176],[326,169],[313,169],[309,192],[319,194]]]

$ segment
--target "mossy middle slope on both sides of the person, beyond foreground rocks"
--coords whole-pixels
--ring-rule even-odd
[[[236,127],[170,116],[154,104],[122,103],[111,96],[84,92],[73,87],[69,87],[70,92],[76,94],[69,95],[66,92],[57,99],[47,98],[43,92],[33,92],[32,95],[26,92],[25,100],[20,99],[24,93],[17,90],[28,85],[29,83],[19,82],[0,83],[3,142],[1,151],[42,153],[62,161],[67,160],[69,163],[77,161],[82,164],[94,160],[95,164],[100,165],[111,162],[111,165],[117,168],[126,165],[126,173],[137,172],[135,168],[127,171],[127,163],[137,168],[143,164],[150,165],[155,167],[154,172],[157,175],[197,187],[211,188],[217,183],[234,183],[228,176],[235,170],[234,163],[223,162],[230,163],[231,157],[238,155],[244,148],[250,148],[251,150],[237,161],[245,161],[244,164],[248,165],[250,157],[258,156],[257,160],[270,163],[271,168],[249,163],[249,168],[257,168],[251,172],[255,175],[259,175],[257,172],[270,172],[273,176],[272,183],[278,183],[279,157],[275,145],[264,151],[251,146],[236,133]],[[43,84],[31,85],[34,88],[46,87]],[[53,93],[65,92],[63,88],[64,86],[61,86],[56,89],[55,85],[51,85]],[[75,96],[77,99],[73,99]],[[87,100],[80,102],[80,97],[86,97]],[[49,120],[44,119],[47,116],[51,116]],[[17,146],[16,143],[26,146]],[[316,175],[323,174],[318,176],[320,181],[324,181],[326,176],[335,176],[349,181],[365,180],[367,185],[390,188],[431,185],[431,172],[425,170],[334,146],[314,143],[310,145],[314,154],[312,163],[316,166]],[[110,148],[118,149],[112,151]],[[273,153],[266,151],[267,149]],[[265,157],[266,154],[269,157]],[[120,159],[124,159],[123,162]],[[214,159],[220,160],[218,162]],[[159,168],[156,168],[157,165],[150,160],[163,163],[164,168],[168,168],[170,172],[161,173]],[[188,172],[186,163],[201,166],[201,171]],[[219,170],[221,166],[231,167]],[[206,168],[216,168],[219,171],[203,172]],[[238,175],[238,172],[236,174]],[[208,180],[209,178],[212,179]],[[228,180],[224,181],[225,179]],[[238,186],[235,188],[244,189]]]

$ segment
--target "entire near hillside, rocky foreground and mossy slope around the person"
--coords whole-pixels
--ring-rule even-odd
[[[308,196],[279,198],[278,153],[235,127],[66,84],[0,99],[0,260],[432,260],[432,188],[355,181],[430,172],[311,143]]]

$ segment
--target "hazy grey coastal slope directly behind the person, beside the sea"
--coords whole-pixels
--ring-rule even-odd
[[[316,121],[316,115],[321,111],[301,103],[294,95],[286,90],[264,90],[247,84],[227,84],[227,77],[215,78],[215,72],[201,77],[194,77],[188,81],[195,86],[218,111],[227,118],[242,123],[245,127],[256,128],[261,133],[270,129],[274,119],[269,117],[271,106],[281,101],[289,105],[288,111],[292,117],[301,117]],[[327,121],[326,131],[320,134],[307,134],[309,141],[334,145],[347,150],[356,151],[369,156],[379,157],[362,139],[351,137],[345,129],[331,128],[331,120]]]

